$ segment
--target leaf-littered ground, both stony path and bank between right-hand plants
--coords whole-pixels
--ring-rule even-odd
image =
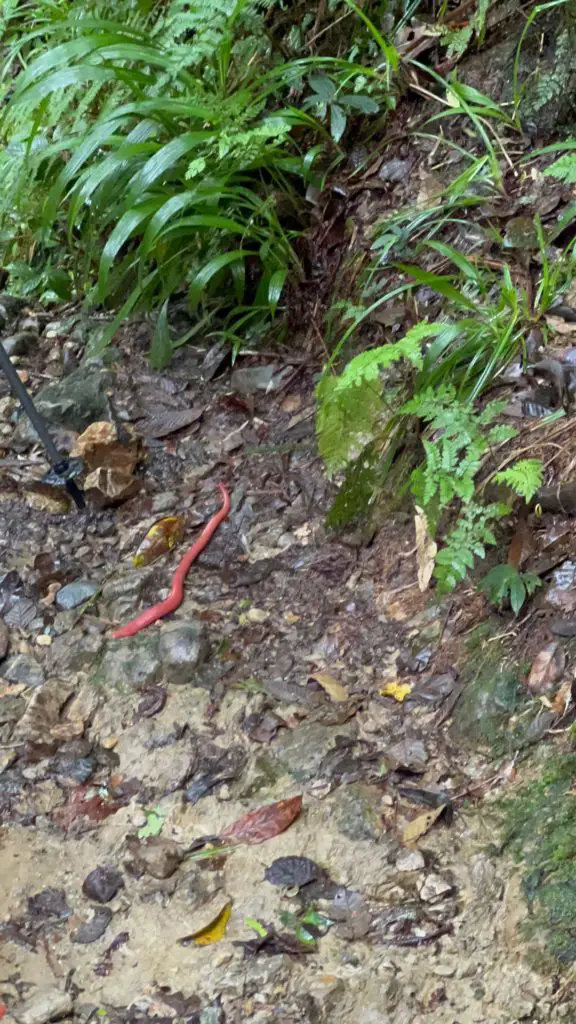
[[[410,88],[420,102],[416,73]],[[407,106],[401,134],[415,126]],[[466,230],[498,232],[503,257],[485,242],[472,256],[509,264],[530,295],[534,218],[548,229],[571,190],[538,177],[540,158],[519,170],[530,143],[502,137],[503,197],[475,206]],[[465,128],[460,141],[476,144]],[[231,369],[221,346],[191,345],[161,376],[143,357],[143,321],[76,371],[75,310],[33,306],[10,325],[15,337],[35,321],[39,343],[18,369],[44,387],[58,443],[88,456],[91,498],[75,515],[40,482],[42,455],[4,397],[2,999],[20,1024],[570,1019],[573,957],[564,943],[560,963],[546,958],[543,926],[524,934],[522,889],[535,883],[496,845],[499,797],[537,779],[537,759],[562,759],[571,738],[570,290],[545,316],[529,309],[537,324],[519,321],[529,359],[502,373],[499,397],[520,433],[486,458],[488,486],[518,457],[543,457],[536,501],[519,505],[498,549],[543,581],[520,616],[506,591],[497,613],[467,585],[435,597],[419,513],[415,524],[389,512],[368,546],[324,524],[334,490],[314,439],[323,302],[345,293],[346,257],[363,258],[376,217],[393,211],[398,237],[402,208],[434,207],[437,148],[393,135],[381,157],[360,155],[364,176],[337,172],[312,240],[322,287],[297,358],[245,353]],[[454,230],[431,239],[419,287],[382,304],[363,343],[451,301],[448,282],[444,294],[434,286]],[[221,480],[231,515],[173,620],[111,641],[166,595]],[[525,793],[525,819],[537,804],[541,824],[549,799]],[[562,814],[570,821],[569,804]],[[552,872],[547,893],[560,882]],[[531,907],[540,920],[537,894]]]

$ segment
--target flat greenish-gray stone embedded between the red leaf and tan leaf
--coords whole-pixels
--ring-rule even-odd
[[[324,758],[336,743],[352,741],[357,733],[355,722],[339,726],[304,722],[296,729],[282,729],[271,744],[271,754],[295,781],[310,782],[318,777]]]

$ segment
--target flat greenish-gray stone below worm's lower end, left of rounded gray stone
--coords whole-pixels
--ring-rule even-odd
[[[160,682],[162,667],[158,641],[158,633],[146,632],[123,640],[111,640],[92,675],[92,682],[120,691]]]

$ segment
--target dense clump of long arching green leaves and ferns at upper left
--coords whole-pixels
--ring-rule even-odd
[[[266,32],[275,2],[170,0],[122,23],[97,0],[56,4],[59,16],[31,4],[44,14],[27,43],[15,33],[3,80],[8,256],[66,231],[76,293],[119,308],[118,322],[188,290],[191,312],[217,312],[235,343],[257,333],[287,278],[303,275],[294,242],[318,143],[378,112],[367,79],[387,89],[382,71],[351,60],[287,60]],[[319,82],[331,135],[290,103]]]

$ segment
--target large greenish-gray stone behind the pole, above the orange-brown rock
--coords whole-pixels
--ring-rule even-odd
[[[110,386],[110,372],[99,362],[88,361],[55,384],[46,384],[35,401],[48,423],[80,433],[90,423],[111,419],[107,394]],[[18,422],[17,433],[20,439],[36,439],[36,431],[26,417]]]

